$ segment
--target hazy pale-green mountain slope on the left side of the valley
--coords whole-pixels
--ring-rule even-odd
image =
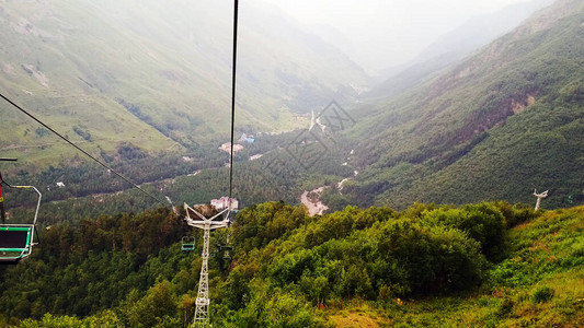
[[[159,152],[225,138],[232,14],[225,1],[2,1],[0,91],[98,154],[122,142]],[[341,51],[261,3],[241,4],[238,55],[238,131],[304,125],[298,114],[367,82]],[[3,155],[46,165],[75,154],[10,105],[0,110]]]

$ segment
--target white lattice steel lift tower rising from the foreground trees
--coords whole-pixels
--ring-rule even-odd
[[[209,313],[209,273],[208,273],[208,259],[209,259],[209,235],[211,230],[228,227],[229,226],[229,214],[230,207],[222,210],[213,218],[205,218],[205,215],[195,211],[193,208],[184,204],[186,211],[186,224],[202,229],[203,234],[203,263],[201,265],[201,278],[198,280],[198,293],[195,301],[195,318],[193,319],[192,327],[207,327],[209,324],[208,313]],[[216,220],[218,219],[219,220]]]

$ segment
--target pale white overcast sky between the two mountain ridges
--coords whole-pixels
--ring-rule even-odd
[[[334,27],[346,37],[337,46],[371,72],[408,61],[472,16],[527,0],[255,1],[271,2],[305,25]]]

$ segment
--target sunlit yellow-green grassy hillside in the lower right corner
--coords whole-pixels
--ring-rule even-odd
[[[396,298],[386,312],[364,304],[342,314],[385,317],[393,327],[580,327],[583,214],[582,207],[546,212],[511,230],[507,258],[493,266],[481,292]]]

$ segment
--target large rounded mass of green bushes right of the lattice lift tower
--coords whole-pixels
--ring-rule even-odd
[[[260,208],[249,208],[240,215],[233,235],[244,245],[257,245],[254,241],[265,230],[247,226],[248,218],[265,214]],[[268,265],[266,278],[275,286],[300,290],[313,304],[334,297],[373,300],[381,290],[393,295],[443,293],[481,282],[485,260],[477,241],[454,227],[426,227],[416,223],[417,218],[397,216],[390,209],[348,207],[307,222],[287,242],[270,241],[253,256]],[[274,213],[268,218],[272,221],[264,226],[278,220]],[[313,281],[319,281],[319,288]]]

